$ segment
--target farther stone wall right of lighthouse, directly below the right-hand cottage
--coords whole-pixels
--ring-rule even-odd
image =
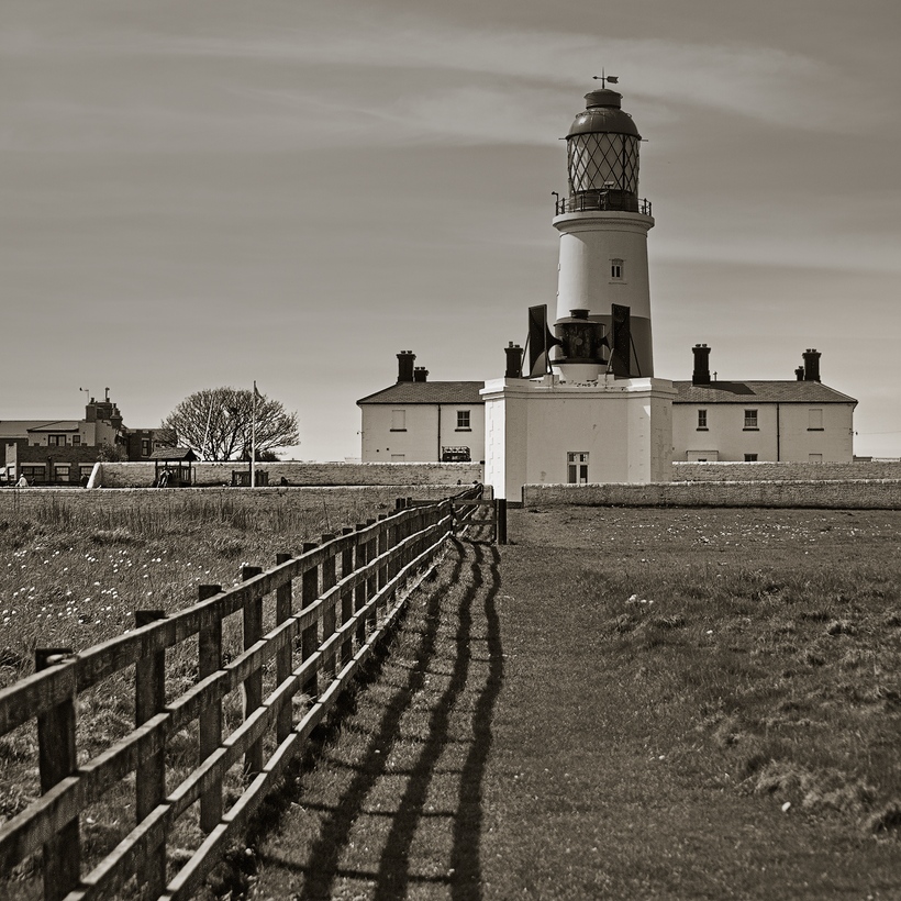
[[[683,463],[672,464],[674,481],[856,481],[901,479],[901,461],[860,463]]]

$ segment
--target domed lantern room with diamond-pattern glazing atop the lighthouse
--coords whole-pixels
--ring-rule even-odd
[[[582,210],[637,212],[642,136],[621,109],[621,93],[603,88],[585,100],[566,136],[570,202]]]

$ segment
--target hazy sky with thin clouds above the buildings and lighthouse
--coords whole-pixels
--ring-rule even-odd
[[[4,0],[0,419],[229,385],[359,456],[413,351],[503,374],[555,307],[565,136],[601,70],[642,144],[655,375],[857,398],[901,456],[898,0]]]

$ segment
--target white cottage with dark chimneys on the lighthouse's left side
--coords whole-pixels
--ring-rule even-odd
[[[357,401],[364,463],[481,463],[481,381],[429,381],[415,354],[398,354],[398,381]]]

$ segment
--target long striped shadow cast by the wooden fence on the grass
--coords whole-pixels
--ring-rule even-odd
[[[478,901],[481,898],[481,864],[479,846],[482,827],[482,781],[491,748],[491,722],[494,704],[503,682],[503,656],[500,622],[496,599],[500,588],[499,554],[496,547],[482,543],[456,543],[456,560],[448,577],[433,586],[425,610],[419,620],[419,639],[412,655],[416,665],[407,669],[403,681],[396,686],[391,700],[382,710],[378,728],[367,743],[365,759],[354,768],[354,776],[340,802],[323,814],[320,832],[313,843],[307,865],[297,867],[304,872],[304,885],[297,894],[304,901],[332,897],[335,879],[340,876],[365,879],[372,886],[372,898],[380,901],[403,898],[410,883],[423,881],[444,883],[457,901]],[[468,564],[468,565],[467,565]],[[469,571],[465,572],[465,568]],[[442,603],[447,588],[463,581],[468,588],[455,611],[457,627],[454,635],[453,663],[440,658],[438,630]],[[481,599],[485,615],[485,639],[474,641],[474,608]],[[444,611],[446,616],[447,611]],[[480,626],[480,630],[482,626]],[[474,652],[475,648],[475,652]],[[471,737],[464,742],[465,760],[460,769],[456,810],[453,811],[453,838],[447,876],[424,877],[410,869],[410,852],[416,830],[426,812],[430,786],[436,775],[442,754],[449,743],[451,718],[455,705],[470,678],[474,659],[487,664],[482,685],[472,704]],[[426,688],[431,663],[451,664],[452,669],[441,696],[434,701],[429,715],[427,732],[420,742],[397,810],[390,814],[391,824],[375,872],[357,872],[341,866],[341,858],[357,819],[365,815],[367,797],[379,779],[387,775],[390,749],[399,739],[401,721],[418,692]],[[376,754],[379,750],[379,754]],[[329,761],[323,760],[325,766]],[[397,775],[397,770],[392,770]],[[445,863],[445,861],[436,861]]]

